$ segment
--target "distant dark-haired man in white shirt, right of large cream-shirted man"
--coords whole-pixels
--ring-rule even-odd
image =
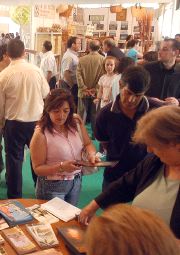
[[[44,76],[49,83],[50,89],[55,89],[56,87],[56,74],[57,74],[57,64],[52,50],[52,44],[50,41],[45,41],[43,43],[42,52],[44,53],[41,59],[40,68],[44,73]]]

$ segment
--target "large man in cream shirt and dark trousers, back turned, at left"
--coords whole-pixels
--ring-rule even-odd
[[[24,146],[41,118],[49,85],[41,70],[24,60],[21,40],[12,39],[7,53],[12,61],[0,73],[0,130],[4,128],[7,195],[21,198]]]

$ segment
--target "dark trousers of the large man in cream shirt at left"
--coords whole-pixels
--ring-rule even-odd
[[[22,164],[24,159],[24,146],[27,145],[29,147],[35,125],[36,122],[6,120],[4,127],[4,142],[8,198],[22,197]],[[31,170],[33,180],[36,183],[37,176],[32,168]]]

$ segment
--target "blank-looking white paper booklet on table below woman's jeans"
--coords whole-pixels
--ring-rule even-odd
[[[41,207],[65,222],[74,219],[81,212],[81,209],[58,197],[42,204]]]

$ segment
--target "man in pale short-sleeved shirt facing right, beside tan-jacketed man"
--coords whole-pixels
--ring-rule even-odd
[[[67,41],[67,51],[61,61],[61,83],[62,88],[70,90],[74,96],[75,104],[77,106],[77,79],[76,69],[79,63],[78,51],[80,50],[81,41],[79,38],[72,36]]]

